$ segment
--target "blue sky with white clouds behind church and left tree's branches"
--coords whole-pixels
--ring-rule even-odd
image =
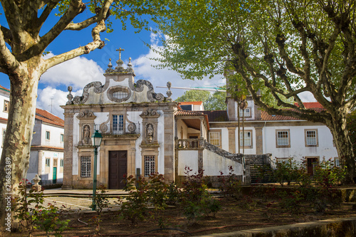
[[[78,19],[90,16],[90,13],[85,10]],[[48,23],[43,26],[41,35],[53,26],[58,20],[57,16],[51,16]],[[156,88],[157,86],[165,86],[168,81],[173,87],[219,87],[226,83],[222,75],[218,75],[213,79],[205,78],[204,80],[182,80],[178,73],[168,68],[158,70],[152,65],[157,64],[155,58],[157,55],[145,46],[144,42],[150,43],[154,47],[159,47],[157,36],[148,32],[141,31],[135,33],[135,29],[127,23],[127,30],[122,31],[120,21],[112,19],[112,33],[101,33],[101,39],[105,40],[106,46],[103,49],[96,49],[88,55],[83,55],[74,58],[60,65],[49,69],[41,76],[38,85],[37,107],[43,110],[53,112],[58,117],[63,118],[63,110],[60,105],[66,104],[66,95],[68,94],[68,85],[73,86],[73,95],[81,95],[84,86],[93,81],[101,81],[104,83],[103,73],[108,68],[109,58],[112,58],[112,64],[116,66],[116,60],[119,58],[117,48],[124,48],[122,52],[122,60],[128,63],[129,57],[132,58],[132,67],[135,70],[136,79],[150,80],[157,93],[166,95],[166,88]],[[0,15],[0,24],[7,26],[4,14]],[[152,26],[154,27],[154,26]],[[58,55],[70,51],[73,48],[84,46],[92,41],[91,28],[83,31],[64,31],[58,38],[53,41],[46,51],[51,53],[47,57]],[[5,88],[10,88],[10,81],[7,75],[0,73],[0,85]],[[172,89],[172,98],[176,99],[184,93],[184,90]],[[305,101],[310,100],[306,97]]]

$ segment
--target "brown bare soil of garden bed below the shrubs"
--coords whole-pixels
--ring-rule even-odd
[[[290,223],[302,223],[323,219],[356,217],[352,204],[341,204],[323,214],[315,213],[308,204],[300,205],[300,211],[290,214],[281,208],[278,200],[253,198],[244,196],[239,200],[217,198],[221,201],[221,211],[215,216],[205,216],[196,223],[188,223],[179,206],[172,206],[162,211],[161,220],[164,228],[159,228],[159,219],[150,217],[153,210],[146,214],[145,221],[132,225],[131,221],[117,217],[117,211],[103,212],[100,217],[96,214],[70,214],[70,230],[64,231],[63,236],[192,236],[212,233],[225,233],[251,228],[281,226]],[[96,216],[96,217],[95,217]],[[95,221],[100,218],[100,229]],[[170,229],[167,229],[170,228]],[[17,235],[16,235],[17,236]],[[19,235],[20,236],[20,235]],[[36,231],[33,236],[46,236]]]

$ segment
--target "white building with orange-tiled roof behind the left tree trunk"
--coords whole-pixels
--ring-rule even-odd
[[[0,85],[1,148],[9,115],[10,90]],[[63,181],[64,121],[46,110],[36,109],[27,177],[31,181],[38,174],[43,184]]]

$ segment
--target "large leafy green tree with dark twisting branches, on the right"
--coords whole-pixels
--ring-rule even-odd
[[[327,125],[348,181],[356,178],[345,130],[356,105],[355,0],[167,0],[167,6],[156,19],[164,36],[158,50],[162,67],[189,79],[233,68],[238,88],[246,87],[263,110]],[[303,92],[312,93],[325,111],[305,108]]]

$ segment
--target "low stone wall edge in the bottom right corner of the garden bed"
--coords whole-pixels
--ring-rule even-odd
[[[356,236],[356,217],[329,219],[296,223],[286,226],[274,226],[268,228],[254,228],[246,231],[230,233],[216,233],[205,237],[328,237],[328,236]],[[200,236],[204,237],[204,236]]]

